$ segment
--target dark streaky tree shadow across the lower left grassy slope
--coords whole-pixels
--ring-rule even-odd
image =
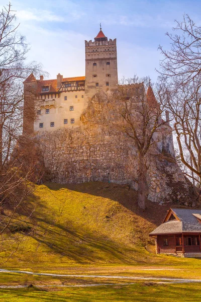
[[[51,185],[49,188],[52,190]],[[144,263],[143,259],[139,259],[139,249],[125,246],[102,232],[92,232],[87,223],[81,228],[72,220],[58,223],[55,217],[58,213],[54,212],[54,208],[47,208],[36,195],[32,196],[32,204],[36,206],[29,223],[33,226],[33,232],[27,236],[48,247],[50,253],[66,256],[77,263]]]

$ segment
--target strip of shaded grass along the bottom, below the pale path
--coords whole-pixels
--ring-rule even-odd
[[[201,285],[171,284],[152,285],[133,284],[127,286],[99,286],[85,288],[66,288],[61,291],[42,291],[37,289],[0,290],[1,302],[195,302],[200,299]],[[55,290],[55,289],[54,289]]]

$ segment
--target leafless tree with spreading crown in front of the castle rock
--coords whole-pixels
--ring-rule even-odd
[[[138,205],[145,209],[146,178],[150,164],[150,154],[161,139],[162,110],[157,103],[151,87],[148,88],[149,101],[143,83],[138,78],[125,80],[113,91],[100,92],[88,105],[87,119],[95,116],[96,122],[108,125],[129,138],[137,152],[138,166]],[[164,126],[165,127],[165,126]],[[160,138],[159,138],[160,136]],[[132,167],[133,171],[136,167]]]

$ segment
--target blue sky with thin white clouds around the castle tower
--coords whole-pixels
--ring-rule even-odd
[[[0,0],[1,7],[8,2]],[[117,38],[118,73],[157,78],[161,44],[174,20],[188,13],[200,25],[201,0],[11,0],[31,50],[28,60],[43,64],[49,78],[84,75],[84,40],[93,39],[99,23],[108,38]]]

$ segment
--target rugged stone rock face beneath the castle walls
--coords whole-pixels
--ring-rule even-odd
[[[123,134],[80,127],[43,132],[38,139],[49,180],[63,184],[114,182],[138,189],[136,149]],[[175,159],[157,150],[150,150],[148,157],[148,199],[160,204],[190,204],[188,183]]]

